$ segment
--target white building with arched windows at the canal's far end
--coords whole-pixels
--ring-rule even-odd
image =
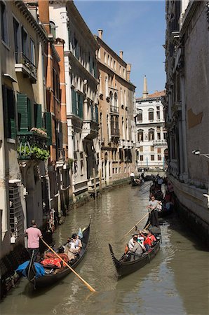
[[[147,92],[144,77],[143,96],[136,99],[136,152],[138,169],[165,169],[167,132],[161,98],[165,91]]]

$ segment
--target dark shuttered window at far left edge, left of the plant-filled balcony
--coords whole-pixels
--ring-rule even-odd
[[[15,139],[16,124],[15,124],[15,97],[13,90],[2,85],[3,109],[4,109],[4,132],[5,137]]]

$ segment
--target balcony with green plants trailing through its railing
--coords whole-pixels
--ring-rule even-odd
[[[36,132],[18,132],[18,160],[48,160],[48,137]]]

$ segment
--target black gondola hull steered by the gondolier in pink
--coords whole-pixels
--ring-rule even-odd
[[[79,252],[79,255],[76,255],[76,258],[72,262],[68,262],[69,266],[73,269],[79,265],[81,260],[83,259],[87,246],[88,246],[88,239],[89,239],[89,233],[90,233],[90,224],[88,225],[88,228],[83,231],[83,237],[82,237],[82,248]],[[72,272],[68,267],[62,266],[61,268],[52,268],[52,267],[44,267],[45,274],[43,276],[36,277],[36,270],[33,264],[28,265],[26,269],[26,276],[29,282],[34,284],[34,288],[42,288],[46,286],[51,286],[58,281],[60,281],[62,278],[67,276],[70,272]]]

